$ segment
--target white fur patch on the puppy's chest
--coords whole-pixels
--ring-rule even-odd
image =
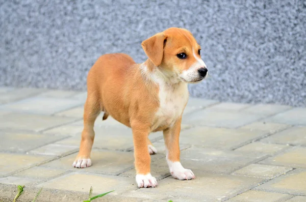
[[[163,80],[158,81],[160,106],[155,114],[151,130],[159,127],[171,127],[182,115],[188,101],[187,83],[179,82],[168,84]]]

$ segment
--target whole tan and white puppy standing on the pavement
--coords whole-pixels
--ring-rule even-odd
[[[199,45],[189,31],[169,28],[143,41],[142,47],[149,57],[142,64],[126,54],[105,54],[89,71],[84,130],[73,166],[91,165],[93,124],[104,111],[103,120],[110,115],[132,128],[139,187],[157,186],[150,175],[150,154],[157,151],[148,139],[155,131],[164,133],[171,175],[180,180],[194,179],[193,172],[180,163],[179,136],[188,101],[187,83],[199,82],[207,75]]]

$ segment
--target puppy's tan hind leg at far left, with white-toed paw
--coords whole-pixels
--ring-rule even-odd
[[[101,112],[98,94],[91,93],[87,96],[84,105],[84,129],[82,131],[82,139],[80,151],[73,162],[73,167],[84,168],[91,166],[90,153],[94,140],[94,122]]]

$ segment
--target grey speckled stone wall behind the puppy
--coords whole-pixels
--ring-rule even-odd
[[[265,2],[265,3],[264,3]],[[0,0],[0,85],[86,89],[99,55],[188,28],[211,77],[192,96],[306,106],[306,1]]]

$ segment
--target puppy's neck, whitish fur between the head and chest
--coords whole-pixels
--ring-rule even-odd
[[[140,68],[145,79],[150,79],[156,83],[163,82],[168,85],[182,83],[178,73],[173,71],[165,71],[161,66],[156,67],[149,59],[142,63]]]

